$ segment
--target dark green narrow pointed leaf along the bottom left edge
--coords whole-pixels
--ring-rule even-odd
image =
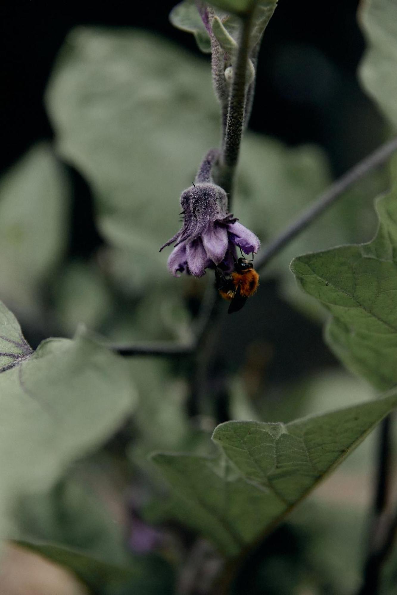
[[[19,541],[20,546],[41,553],[45,558],[67,566],[97,595],[172,595],[170,567],[157,556],[130,558],[117,565],[88,556],[79,550],[41,541]]]

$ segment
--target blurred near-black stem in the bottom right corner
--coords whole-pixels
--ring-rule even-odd
[[[367,556],[364,562],[362,585],[357,595],[377,595],[379,593],[382,567],[396,537],[397,515],[392,518],[389,514],[392,471],[391,425],[392,417],[390,415],[380,425]]]

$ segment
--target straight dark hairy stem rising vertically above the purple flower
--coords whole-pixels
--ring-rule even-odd
[[[241,135],[244,129],[244,114],[247,98],[247,65],[249,59],[249,42],[252,15],[241,17],[240,40],[237,59],[233,68],[233,79],[229,96],[227,124],[222,145],[221,164],[217,183],[224,188],[229,197],[229,210],[235,168],[240,152]]]

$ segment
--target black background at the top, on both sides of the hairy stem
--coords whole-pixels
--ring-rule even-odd
[[[174,4],[171,0],[157,4],[3,0],[0,169],[35,140],[51,137],[42,96],[55,55],[72,27],[144,27],[200,54],[193,36],[170,25],[168,14]],[[320,143],[336,175],[381,140],[380,119],[356,81],[364,50],[357,7],[358,0],[304,4],[280,0],[262,43],[250,124],[287,143]]]

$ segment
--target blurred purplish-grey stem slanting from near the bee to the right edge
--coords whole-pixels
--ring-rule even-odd
[[[351,187],[356,181],[366,176],[371,170],[383,164],[397,149],[397,137],[390,142],[384,143],[376,151],[362,159],[357,165],[352,167],[346,174],[336,180],[331,186],[322,192],[321,195],[312,203],[309,208],[303,211],[302,215],[293,221],[286,230],[282,231],[267,248],[256,259],[256,269],[265,267],[272,258],[278,255],[283,248],[289,244],[296,236],[299,236],[317,217],[331,205],[333,205],[343,193]]]

